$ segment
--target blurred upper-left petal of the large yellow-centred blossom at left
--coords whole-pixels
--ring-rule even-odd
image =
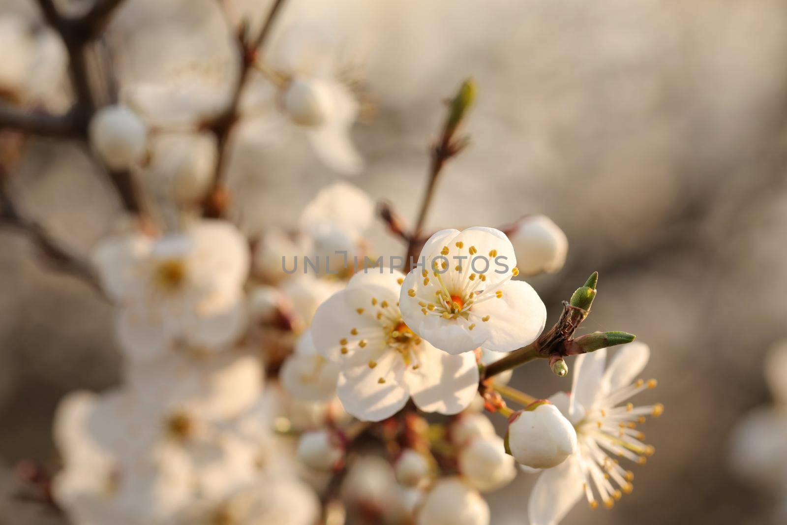
[[[127,299],[139,289],[136,268],[150,254],[150,247],[150,238],[140,234],[107,238],[96,247],[93,261],[110,298]]]

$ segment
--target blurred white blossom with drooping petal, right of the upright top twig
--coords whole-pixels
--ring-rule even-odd
[[[341,78],[331,47],[316,31],[290,31],[268,52],[262,69],[275,86],[275,105],[286,119],[278,134],[302,133],[325,165],[352,175],[364,167],[350,139],[360,104]],[[254,113],[256,106],[270,105],[269,97],[270,91],[262,87],[249,91],[242,107]]]

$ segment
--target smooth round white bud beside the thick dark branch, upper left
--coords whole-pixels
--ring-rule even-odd
[[[93,149],[111,169],[127,169],[145,153],[147,126],[123,105],[99,109],[89,131]]]

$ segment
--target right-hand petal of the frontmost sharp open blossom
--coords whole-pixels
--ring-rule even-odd
[[[524,281],[508,281],[502,298],[493,298],[471,308],[475,316],[490,316],[483,324],[489,338],[483,346],[496,352],[511,352],[534,342],[546,324],[546,306],[536,290]]]

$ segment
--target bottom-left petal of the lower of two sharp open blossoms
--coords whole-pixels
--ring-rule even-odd
[[[381,378],[384,383],[379,382]],[[398,353],[386,352],[375,368],[360,364],[342,370],[337,394],[345,412],[359,420],[380,421],[393,416],[410,398],[404,361]]]

